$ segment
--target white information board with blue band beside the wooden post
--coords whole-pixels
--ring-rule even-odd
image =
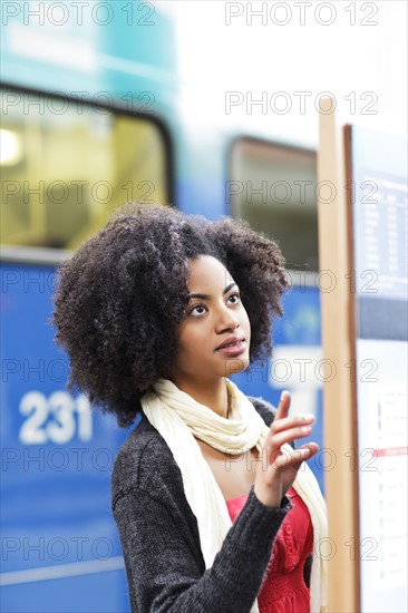
[[[356,274],[361,611],[406,612],[407,144],[346,130]]]

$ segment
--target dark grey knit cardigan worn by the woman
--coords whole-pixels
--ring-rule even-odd
[[[269,426],[273,407],[262,399],[250,400]],[[292,507],[286,497],[281,508],[270,508],[252,486],[206,571],[182,473],[145,416],[118,453],[111,486],[133,613],[250,612],[274,538]]]

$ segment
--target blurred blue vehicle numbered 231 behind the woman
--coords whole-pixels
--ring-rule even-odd
[[[322,448],[315,152],[178,104],[174,23],[153,2],[3,2],[1,610],[129,611],[110,471],[128,431],[66,390],[49,324],[59,263],[127,201],[232,215],[279,240],[291,289],[246,393],[314,412]],[[329,280],[330,281],[330,280]],[[330,374],[330,373],[329,373]],[[329,458],[330,459],[330,458]],[[323,487],[324,449],[311,468]]]

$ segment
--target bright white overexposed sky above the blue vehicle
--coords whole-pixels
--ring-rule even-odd
[[[344,120],[406,132],[405,0],[155,3],[175,20],[183,113],[192,125],[241,125],[315,144],[314,98],[331,91]],[[305,4],[304,25],[300,4]],[[264,17],[255,17],[261,10]],[[319,23],[330,20],[331,25]],[[243,99],[231,107],[230,115],[225,113],[227,91],[237,91]],[[266,91],[266,114],[254,106],[249,114],[245,103],[250,96],[260,99],[262,91]],[[270,107],[284,108],[284,97],[273,98],[279,91],[292,104],[285,115]],[[305,97],[305,114],[294,91],[312,93]]]

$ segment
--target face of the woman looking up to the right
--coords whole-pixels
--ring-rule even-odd
[[[191,260],[190,301],[176,330],[172,379],[178,385],[230,377],[249,366],[251,327],[240,289],[211,255]],[[225,347],[227,346],[227,347]]]

